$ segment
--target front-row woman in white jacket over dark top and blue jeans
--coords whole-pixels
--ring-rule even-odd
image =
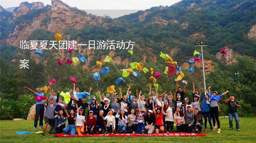
[[[118,115],[119,110],[117,111],[116,118],[118,118],[118,133],[125,133],[127,116],[124,115],[124,110],[121,109],[120,115]]]

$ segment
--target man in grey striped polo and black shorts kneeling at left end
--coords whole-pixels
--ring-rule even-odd
[[[48,97],[46,96],[46,99],[47,98]],[[53,104],[53,98],[50,98],[48,100],[48,102],[49,102],[48,104],[46,104],[46,99],[43,102],[43,105],[46,108],[46,110],[45,110],[45,116],[44,116],[45,125],[44,125],[43,133],[41,134],[41,136],[45,135],[44,133],[45,133],[45,130],[46,130],[48,124],[51,126],[48,134],[52,134],[52,130],[53,130],[54,125],[55,125],[55,120],[54,120],[55,105]]]

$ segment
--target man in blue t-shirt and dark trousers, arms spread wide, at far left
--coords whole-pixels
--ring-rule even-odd
[[[51,85],[52,85],[52,83],[49,82],[46,92],[47,92],[47,90],[49,90]],[[35,97],[44,96],[44,92],[41,92],[39,90],[39,88],[36,88],[36,92],[28,87],[23,87],[23,88],[28,89],[28,91],[30,91],[32,94],[34,94]],[[37,130],[36,127],[37,127],[38,119],[39,119],[39,127],[41,129],[43,129],[43,119],[44,119],[44,104],[43,104],[43,102],[44,102],[44,100],[36,102],[36,116],[35,116],[35,120],[34,120],[34,130]]]

